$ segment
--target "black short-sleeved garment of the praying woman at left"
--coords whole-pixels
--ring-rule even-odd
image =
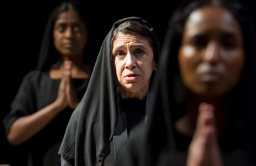
[[[61,79],[51,79],[49,71],[34,70],[26,74],[11,103],[11,112],[3,121],[6,136],[18,118],[31,115],[56,100],[60,81]],[[73,82],[78,99],[81,100],[89,79],[74,79]],[[28,166],[60,165],[58,151],[72,112],[70,108],[64,109],[43,130],[25,143],[29,149]]]

